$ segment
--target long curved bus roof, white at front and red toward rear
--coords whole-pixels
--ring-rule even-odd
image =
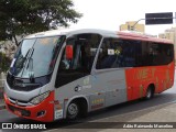
[[[154,37],[152,35],[135,32],[135,31],[119,31],[119,32],[117,32],[117,31],[107,31],[107,30],[98,30],[98,29],[52,30],[52,31],[31,34],[31,35],[26,36],[25,38],[56,36],[56,35],[72,36],[72,35],[81,34],[81,33],[95,33],[95,34],[100,34],[102,36],[120,37],[120,38],[125,38],[125,40],[139,40],[139,41],[141,40],[141,41],[161,42],[161,43],[169,43],[169,44],[173,43],[173,41],[170,41],[170,40],[158,38],[158,37]]]

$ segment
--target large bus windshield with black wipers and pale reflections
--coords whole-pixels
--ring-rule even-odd
[[[53,72],[57,53],[65,36],[23,40],[12,61],[10,73],[15,77],[31,78]]]

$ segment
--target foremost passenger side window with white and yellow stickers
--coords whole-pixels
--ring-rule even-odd
[[[123,41],[118,38],[105,38],[100,47],[97,69],[118,68],[123,66]]]

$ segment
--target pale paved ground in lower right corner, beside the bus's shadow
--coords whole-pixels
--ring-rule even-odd
[[[136,132],[139,130],[142,132],[175,132],[176,103],[170,102],[167,105],[161,105],[127,114],[109,117],[81,124],[69,125],[65,129],[50,130],[50,132]]]

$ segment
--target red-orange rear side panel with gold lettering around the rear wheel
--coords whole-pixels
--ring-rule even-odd
[[[129,68],[125,70],[128,100],[145,97],[147,87],[153,84],[155,94],[163,92],[174,84],[174,63],[165,66]]]

